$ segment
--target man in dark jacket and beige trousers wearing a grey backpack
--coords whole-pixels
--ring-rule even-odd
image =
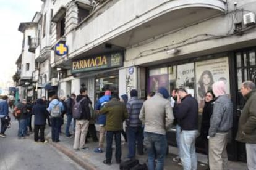
[[[82,100],[80,103],[82,109],[82,115],[79,119],[75,120],[75,141],[74,150],[85,150],[85,137],[87,136],[89,121],[91,118],[89,103],[90,100],[87,98],[87,89],[80,89],[80,95],[77,95],[77,102]]]

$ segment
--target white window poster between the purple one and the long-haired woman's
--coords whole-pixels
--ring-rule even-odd
[[[193,92],[194,96],[194,63],[187,63],[177,66],[177,88],[184,88],[189,92]]]

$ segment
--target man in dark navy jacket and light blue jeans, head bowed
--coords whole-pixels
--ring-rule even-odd
[[[181,103],[176,108],[176,118],[181,126],[179,154],[184,170],[197,169],[195,140],[198,136],[198,103],[185,89],[177,89]]]

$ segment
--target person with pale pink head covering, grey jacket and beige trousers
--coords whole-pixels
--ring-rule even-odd
[[[226,145],[233,124],[233,104],[226,94],[224,81],[213,84],[213,94],[216,100],[209,129],[209,165],[210,169],[228,169]]]

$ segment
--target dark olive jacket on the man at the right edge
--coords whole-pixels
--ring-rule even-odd
[[[247,102],[239,119],[236,140],[256,144],[256,90],[245,95],[245,99]]]

